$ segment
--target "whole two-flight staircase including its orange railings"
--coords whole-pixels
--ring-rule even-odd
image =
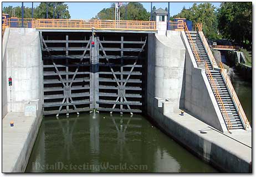
[[[230,89],[228,89],[227,87],[228,84],[229,85],[232,85],[232,84],[227,77],[226,79],[223,78],[224,69],[222,68],[221,70],[214,70],[214,67],[212,64],[213,60],[211,61],[211,59],[209,59],[209,55],[207,54],[207,49],[204,47],[203,40],[199,36],[198,32],[196,31],[189,32],[185,25],[185,33],[186,33],[188,42],[190,43],[190,46],[193,51],[193,55],[196,59],[198,67],[201,69],[206,69],[207,78],[212,87],[214,96],[216,97],[219,109],[221,110],[223,119],[228,128],[228,131],[230,129],[246,129],[247,127],[249,127],[249,122],[247,121],[247,118],[242,110],[242,113],[245,116],[245,118],[243,116],[244,122],[245,122],[245,124],[243,124],[242,117],[240,116],[240,114],[242,113],[239,112],[240,107],[242,108],[242,106],[240,106],[240,103],[239,103],[239,107],[235,105],[233,96],[237,97],[237,95],[236,94],[234,95],[233,93],[234,89],[232,93]],[[230,83],[227,83],[228,81]],[[233,88],[233,86],[231,87]]]

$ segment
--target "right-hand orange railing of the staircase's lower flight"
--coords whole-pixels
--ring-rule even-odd
[[[246,130],[247,128],[250,127],[250,123],[249,123],[249,121],[248,121],[248,119],[247,119],[247,117],[244,113],[243,107],[242,107],[242,105],[241,105],[241,103],[240,103],[240,101],[237,97],[237,93],[235,93],[234,87],[231,83],[231,80],[228,77],[228,74],[227,74],[226,70],[223,67],[223,64],[220,63],[220,66],[221,66],[221,74],[223,76],[224,82],[226,83],[226,85],[228,87],[228,90],[231,93],[231,97],[233,99],[233,102],[234,102],[235,106],[238,108],[239,116],[243,119],[243,121],[245,123],[245,130]]]

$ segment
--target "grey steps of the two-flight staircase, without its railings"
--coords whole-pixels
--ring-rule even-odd
[[[213,84],[211,84],[210,82],[211,79],[209,78],[208,75],[207,77],[211,84],[214,96],[216,97],[216,100],[218,102],[218,106],[219,106],[219,109],[221,110],[226,126],[228,127],[228,120],[229,120],[232,124],[231,129],[244,129],[243,123],[241,121],[241,117],[238,114],[237,107],[235,107],[234,105],[231,94],[228,91],[228,88],[226,86],[226,83],[224,82],[221,72],[219,70],[213,70],[213,66],[211,64],[211,61],[209,60],[208,54],[206,53],[206,49],[203,46],[203,42],[199,37],[198,32],[190,32],[192,41],[189,39],[187,32],[186,32],[186,35],[192,51],[195,46],[196,52],[193,51],[193,55],[195,56],[195,53],[199,55],[200,62],[197,61],[198,67],[201,69],[205,69],[206,68],[205,64],[207,64],[209,71],[211,72],[214,83],[217,87],[218,93],[221,97],[221,101],[223,102],[223,105],[226,109],[227,114],[224,113],[224,111],[222,110],[221,101],[217,99],[217,93],[216,93],[217,91],[214,89]]]

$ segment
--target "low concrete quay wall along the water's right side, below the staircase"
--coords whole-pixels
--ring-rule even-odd
[[[251,147],[214,130],[186,112],[185,116],[170,114],[166,112],[170,109],[168,101],[160,103],[161,100],[154,99],[150,117],[163,132],[224,172],[252,173],[249,165],[252,162]]]

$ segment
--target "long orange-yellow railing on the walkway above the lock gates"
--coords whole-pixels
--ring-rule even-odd
[[[117,29],[117,30],[156,30],[155,21],[136,20],[73,20],[37,19],[37,29]]]

